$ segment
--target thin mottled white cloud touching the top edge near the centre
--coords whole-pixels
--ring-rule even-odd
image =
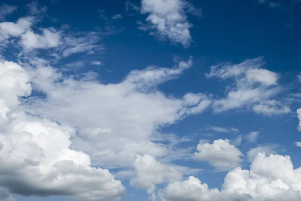
[[[159,40],[170,40],[189,47],[192,38],[188,22],[187,9],[193,8],[185,0],[141,0],[141,14],[148,14],[145,21],[147,25],[141,26],[142,30],[153,30],[151,35],[156,35]]]

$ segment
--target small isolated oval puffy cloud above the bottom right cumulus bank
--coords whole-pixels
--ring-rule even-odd
[[[208,161],[218,170],[228,170],[236,167],[241,162],[243,154],[230,141],[225,139],[215,140],[212,144],[200,141],[197,146],[198,152],[194,158],[201,161]]]

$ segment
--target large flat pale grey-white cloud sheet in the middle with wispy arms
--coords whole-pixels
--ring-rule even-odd
[[[166,96],[157,86],[191,65],[188,60],[174,68],[134,70],[117,84],[64,77],[54,68],[39,67],[32,71],[32,82],[46,99],[27,98],[24,106],[31,114],[77,127],[71,146],[88,153],[93,165],[132,167],[136,154],[174,158],[177,149],[152,142],[152,137],[165,125],[201,113],[210,99],[199,93]]]

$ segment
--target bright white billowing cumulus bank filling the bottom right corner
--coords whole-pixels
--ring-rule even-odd
[[[193,176],[170,183],[161,196],[164,200],[256,200],[280,201],[301,199],[301,169],[293,169],[289,156],[259,153],[250,170],[240,167],[230,171],[221,191],[209,189]]]

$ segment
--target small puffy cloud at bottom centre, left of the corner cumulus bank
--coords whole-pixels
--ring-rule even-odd
[[[146,189],[148,193],[154,192],[156,184],[182,180],[182,172],[157,162],[153,156],[147,154],[137,155],[134,167],[137,176],[130,180],[130,184]]]

